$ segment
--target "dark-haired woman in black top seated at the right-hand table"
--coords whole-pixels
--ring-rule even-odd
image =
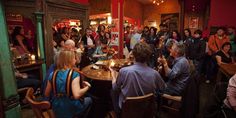
[[[230,53],[231,48],[232,47],[230,42],[225,42],[222,45],[221,50],[216,53],[216,61],[218,65],[226,63],[234,63],[234,60]]]

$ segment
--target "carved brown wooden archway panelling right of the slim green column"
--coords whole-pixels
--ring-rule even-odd
[[[83,28],[88,27],[88,5],[75,4],[63,0],[46,0],[44,6],[44,34],[46,64],[49,67],[53,63],[52,26],[58,19],[78,19]]]

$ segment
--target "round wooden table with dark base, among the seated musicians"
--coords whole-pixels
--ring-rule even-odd
[[[93,106],[91,108],[91,117],[104,118],[106,114],[112,110],[112,100],[110,91],[112,89],[112,77],[111,72],[108,69],[110,62],[113,61],[116,64],[124,64],[125,59],[112,59],[106,61],[100,61],[101,63],[91,64],[84,67],[81,71],[86,79],[92,85],[89,93],[93,95]],[[93,66],[97,65],[94,69]]]

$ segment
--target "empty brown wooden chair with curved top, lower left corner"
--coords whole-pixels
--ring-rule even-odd
[[[26,100],[31,105],[35,115],[37,118],[54,118],[53,111],[50,109],[50,102],[49,101],[36,101],[34,96],[33,88],[29,88],[27,90]]]

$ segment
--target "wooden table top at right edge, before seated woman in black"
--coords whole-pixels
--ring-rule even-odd
[[[220,70],[231,77],[236,73],[236,64],[221,64]]]

